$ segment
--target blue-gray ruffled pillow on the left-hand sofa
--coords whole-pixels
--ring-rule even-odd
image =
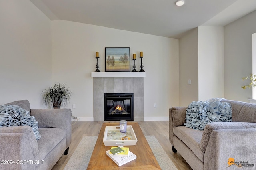
[[[0,106],[0,127],[24,125],[32,127],[36,139],[41,138],[38,131],[38,121],[36,121],[34,116],[29,115],[29,111],[22,109],[17,105]]]

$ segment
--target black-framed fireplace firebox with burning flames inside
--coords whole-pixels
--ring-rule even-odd
[[[104,121],[133,121],[133,93],[104,93]]]

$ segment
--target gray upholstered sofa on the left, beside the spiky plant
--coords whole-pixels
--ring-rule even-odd
[[[71,143],[71,109],[30,109],[28,100],[18,105],[38,121],[41,138],[30,126],[0,127],[1,170],[50,170]]]

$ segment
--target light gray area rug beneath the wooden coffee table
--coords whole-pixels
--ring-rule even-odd
[[[178,170],[155,136],[145,136],[162,170]],[[84,136],[64,170],[86,170],[98,136]]]

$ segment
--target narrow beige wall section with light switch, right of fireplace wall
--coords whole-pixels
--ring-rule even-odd
[[[188,106],[198,101],[198,28],[180,38],[179,54],[180,106]]]

